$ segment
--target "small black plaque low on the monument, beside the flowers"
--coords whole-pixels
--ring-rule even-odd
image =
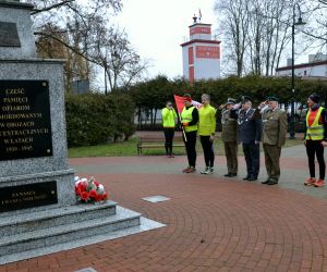
[[[56,182],[0,188],[0,212],[53,203],[58,203]]]

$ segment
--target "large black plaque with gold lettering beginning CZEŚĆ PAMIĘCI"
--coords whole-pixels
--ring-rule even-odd
[[[52,156],[49,83],[0,81],[0,161]]]

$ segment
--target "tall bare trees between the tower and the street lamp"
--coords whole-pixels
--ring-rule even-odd
[[[295,0],[216,0],[233,74],[274,75],[291,41]]]

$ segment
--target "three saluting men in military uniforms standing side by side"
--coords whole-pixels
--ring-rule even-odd
[[[228,173],[227,177],[238,175],[238,146],[242,145],[246,162],[244,181],[256,181],[259,173],[259,143],[263,143],[267,180],[262,184],[275,185],[280,176],[280,150],[287,134],[287,113],[279,109],[278,99],[268,97],[256,109],[252,99],[243,97],[240,103],[229,98],[222,107],[222,133]]]

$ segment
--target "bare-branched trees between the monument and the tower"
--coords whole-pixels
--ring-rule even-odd
[[[35,5],[32,14],[38,36],[38,52],[51,58],[55,51],[58,52],[59,44],[66,48],[58,57],[68,59],[68,90],[71,81],[92,79],[98,67],[105,70],[110,90],[131,85],[146,70],[147,62],[141,60],[126,34],[110,22],[110,17],[121,11],[122,0],[25,2]],[[49,46],[53,44],[57,49],[50,52]]]

